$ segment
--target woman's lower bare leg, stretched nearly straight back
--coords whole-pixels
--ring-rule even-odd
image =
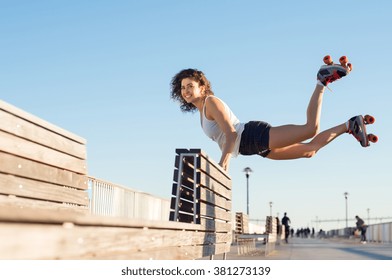
[[[312,157],[318,150],[345,132],[347,128],[343,123],[317,134],[309,143],[296,143],[283,148],[271,149],[267,158],[283,160]]]

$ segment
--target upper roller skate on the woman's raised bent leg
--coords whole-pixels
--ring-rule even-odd
[[[334,64],[329,55],[326,55],[323,60],[326,65],[321,66],[317,72],[317,80],[324,86],[348,75],[352,70],[352,64],[348,62],[346,56],[339,59],[340,64]]]

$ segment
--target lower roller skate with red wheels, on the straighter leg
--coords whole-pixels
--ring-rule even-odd
[[[362,147],[368,147],[369,142],[376,143],[378,137],[374,134],[367,134],[365,125],[373,124],[375,121],[376,119],[370,115],[352,117],[348,121],[348,133],[352,134]]]

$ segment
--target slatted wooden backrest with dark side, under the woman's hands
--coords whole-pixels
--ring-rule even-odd
[[[177,149],[170,220],[198,225],[205,234],[199,258],[231,246],[231,179],[200,149]]]

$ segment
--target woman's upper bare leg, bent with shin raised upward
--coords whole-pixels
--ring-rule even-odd
[[[320,126],[320,115],[325,88],[317,85],[306,111],[306,124],[271,127],[269,146],[271,149],[300,143],[314,137]]]

